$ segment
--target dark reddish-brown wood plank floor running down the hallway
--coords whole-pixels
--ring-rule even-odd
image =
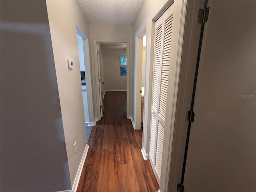
[[[126,92],[106,92],[104,116],[92,128],[77,192],[156,192],[140,130],[126,118]]]

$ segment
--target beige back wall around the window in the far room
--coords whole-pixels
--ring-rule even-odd
[[[119,56],[126,56],[126,49],[103,49],[105,90],[126,90],[126,79],[120,78]]]

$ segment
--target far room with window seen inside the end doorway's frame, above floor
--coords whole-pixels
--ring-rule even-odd
[[[97,43],[100,114],[104,113],[104,96],[108,91],[127,90],[126,43]]]

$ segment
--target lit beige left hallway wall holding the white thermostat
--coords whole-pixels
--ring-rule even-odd
[[[76,1],[47,0],[46,4],[60,94],[68,166],[72,187],[74,187],[78,167],[86,147],[76,27],[89,38],[89,24]],[[74,68],[68,68],[68,59],[73,59]],[[86,78],[88,77],[86,76]],[[77,144],[76,153],[74,152],[74,142]]]

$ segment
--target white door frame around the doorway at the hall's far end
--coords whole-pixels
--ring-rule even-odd
[[[98,120],[100,116],[100,88],[98,84],[98,62],[97,61],[97,43],[126,43],[126,55],[127,55],[127,77],[126,77],[126,116],[130,116],[130,40],[129,39],[93,39],[93,51],[94,51],[94,74],[96,82],[96,117]]]

